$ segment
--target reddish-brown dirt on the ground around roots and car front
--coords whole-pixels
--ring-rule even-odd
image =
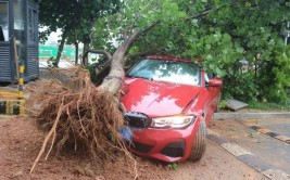
[[[96,162],[72,153],[41,157],[33,173],[29,170],[39,153],[45,133],[30,117],[0,117],[0,179],[134,179],[135,175],[118,162]],[[239,162],[212,141],[207,141],[205,156],[198,163],[184,162],[177,169],[168,164],[137,157],[138,179],[266,179]]]

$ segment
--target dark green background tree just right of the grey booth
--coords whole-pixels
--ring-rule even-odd
[[[51,31],[62,30],[56,56],[56,64],[59,64],[67,37],[71,37],[68,43],[75,43],[76,48],[78,42],[83,42],[86,51],[89,49],[93,22],[115,12],[119,5],[118,0],[42,0],[39,25],[47,29],[40,33],[40,40],[46,41]]]

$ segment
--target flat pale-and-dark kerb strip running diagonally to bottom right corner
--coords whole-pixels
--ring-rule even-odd
[[[228,151],[235,157],[247,164],[248,166],[252,167],[256,171],[263,173],[270,180],[289,180],[290,175],[286,173],[285,171],[278,169],[272,164],[268,164],[261,159],[260,157],[255,156],[253,153],[242,149],[238,144],[231,143],[225,138],[222,138],[218,133],[207,129],[209,136],[207,138],[214,142],[216,142],[219,146]]]

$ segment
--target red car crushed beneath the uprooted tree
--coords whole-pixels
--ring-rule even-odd
[[[199,160],[206,124],[217,107],[223,81],[207,78],[199,63],[150,55],[125,76],[121,101],[131,150],[164,162]]]

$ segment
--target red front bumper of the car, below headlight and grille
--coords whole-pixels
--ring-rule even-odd
[[[197,118],[186,129],[130,128],[131,132],[125,139],[129,141],[129,149],[138,155],[163,162],[182,162],[191,152],[199,121]]]

